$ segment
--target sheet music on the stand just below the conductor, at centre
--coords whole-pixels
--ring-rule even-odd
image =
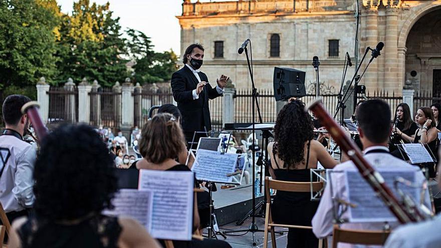
[[[209,151],[200,149],[196,154],[191,170],[196,174],[197,180],[209,182],[233,183],[238,154]]]

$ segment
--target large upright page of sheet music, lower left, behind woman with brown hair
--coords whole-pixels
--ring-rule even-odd
[[[191,171],[140,170],[139,189],[153,192],[154,238],[191,240],[193,187]]]

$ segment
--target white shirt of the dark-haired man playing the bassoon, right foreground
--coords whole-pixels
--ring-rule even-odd
[[[374,149],[382,149],[388,151],[388,149],[384,146],[372,146],[364,150],[364,152],[368,152]],[[395,158],[389,153],[369,153],[364,156],[366,160],[370,163],[370,165],[378,170],[381,168],[396,169],[399,171],[402,168],[414,168],[415,166],[406,163],[403,160]],[[338,164],[334,167],[333,171],[346,171],[346,170],[354,170],[356,169],[354,163],[352,161],[347,161],[341,164]],[[332,173],[332,181],[333,182],[343,182],[345,180],[344,173]],[[415,180],[417,182],[422,182],[424,180],[424,175],[418,173],[415,176]],[[314,234],[323,238],[332,234],[333,224],[334,224],[334,214],[333,214],[333,198],[343,198],[345,200],[348,199],[348,192],[344,187],[344,183],[334,183],[332,187],[332,195],[330,189],[330,183],[326,184],[325,190],[323,192],[323,196],[320,200],[319,207],[317,209],[316,214],[312,219],[312,231]],[[430,198],[428,196],[428,191],[426,192],[425,204],[430,209]],[[389,223],[389,225],[393,228],[398,225],[398,222]],[[364,230],[381,230],[384,227],[384,222],[363,222],[363,223],[343,223],[341,225],[342,228],[349,229],[364,229]],[[332,243],[331,238],[328,237],[328,243]],[[366,246],[366,245],[353,245],[347,243],[339,243],[339,248],[343,247],[378,247],[378,246]]]

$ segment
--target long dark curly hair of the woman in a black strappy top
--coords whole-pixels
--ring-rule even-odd
[[[284,161],[287,168],[305,161],[305,143],[313,139],[311,116],[305,111],[305,104],[292,100],[283,106],[274,127],[274,152]]]

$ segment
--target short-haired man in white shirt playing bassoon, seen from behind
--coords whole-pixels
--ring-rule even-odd
[[[358,119],[358,131],[360,133],[360,140],[365,148],[363,153],[366,160],[372,165],[373,168],[381,169],[387,168],[388,170],[400,171],[401,168],[408,168],[412,165],[393,157],[389,154],[387,144],[389,142],[390,133],[390,109],[386,102],[380,99],[372,99],[363,102],[358,107],[357,119]],[[352,161],[347,161],[334,167],[334,171],[345,171],[356,169]],[[345,180],[344,173],[333,173],[333,182],[343,182]],[[424,180],[422,173],[418,173],[415,181]],[[319,238],[324,238],[332,234],[332,227],[334,224],[333,214],[333,200],[343,197],[347,197],[348,192],[346,188],[341,186],[333,186],[331,190],[331,184],[326,184],[323,196],[320,200],[319,207],[316,214],[312,219],[312,230],[314,234]],[[428,195],[428,194],[427,194]],[[430,206],[430,200],[426,197],[426,205]],[[394,226],[397,223],[390,223]],[[352,229],[376,229],[380,230],[384,226],[384,222],[364,222],[364,223],[344,223],[342,228]],[[331,241],[331,242],[329,242]],[[332,240],[328,239],[328,243],[332,243]],[[352,247],[339,244],[338,247]],[[358,246],[357,246],[358,247]]]

